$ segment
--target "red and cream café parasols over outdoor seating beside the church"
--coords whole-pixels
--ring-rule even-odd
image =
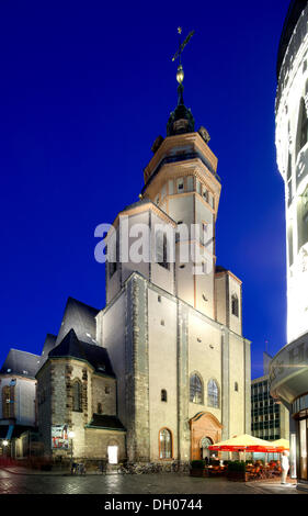
[[[261,451],[265,453],[278,451],[278,447],[274,445],[274,442],[259,439],[258,437],[249,436],[248,434],[236,436],[221,442],[216,442],[215,445],[209,446],[208,449],[217,451]]]

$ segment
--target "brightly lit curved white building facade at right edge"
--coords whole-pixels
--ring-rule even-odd
[[[277,59],[276,149],[285,182],[287,345],[271,394],[290,411],[292,473],[308,487],[308,5],[290,3]]]

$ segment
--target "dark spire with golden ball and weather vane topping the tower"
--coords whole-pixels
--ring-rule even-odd
[[[184,104],[184,69],[182,66],[182,52],[187,45],[191,37],[194,35],[194,31],[190,32],[186,40],[181,42],[182,27],[178,29],[178,34],[180,36],[179,49],[173,56],[172,60],[179,58],[179,66],[176,71],[178,86],[178,106],[170,114],[168,124],[167,124],[167,136],[172,136],[174,134],[192,133],[195,128],[195,121],[190,109]]]

